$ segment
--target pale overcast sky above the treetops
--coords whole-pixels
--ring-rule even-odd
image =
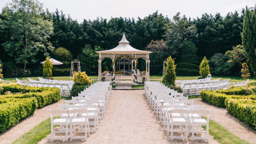
[[[83,19],[94,20],[97,17],[111,19],[111,17],[143,18],[156,11],[172,18],[177,12],[187,17],[197,18],[204,13],[221,13],[242,11],[245,6],[253,7],[256,1],[251,0],[38,0],[54,12],[56,8],[72,19],[82,22]],[[0,0],[0,9],[11,0]]]

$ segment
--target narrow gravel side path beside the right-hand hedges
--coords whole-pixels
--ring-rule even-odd
[[[225,127],[234,135],[239,136],[241,139],[247,140],[250,143],[256,143],[256,131],[242,123],[236,117],[227,112],[225,108],[212,106],[201,99],[193,99],[194,105],[204,105],[204,109],[211,109],[210,119]]]

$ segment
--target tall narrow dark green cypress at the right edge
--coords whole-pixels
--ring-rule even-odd
[[[241,36],[245,49],[244,55],[253,71],[253,75],[256,76],[256,14],[255,10],[250,11],[247,7]]]

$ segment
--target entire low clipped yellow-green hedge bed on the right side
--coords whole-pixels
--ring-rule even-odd
[[[200,93],[203,101],[226,108],[234,117],[256,129],[255,88],[255,86],[232,87],[227,90],[203,90]]]

